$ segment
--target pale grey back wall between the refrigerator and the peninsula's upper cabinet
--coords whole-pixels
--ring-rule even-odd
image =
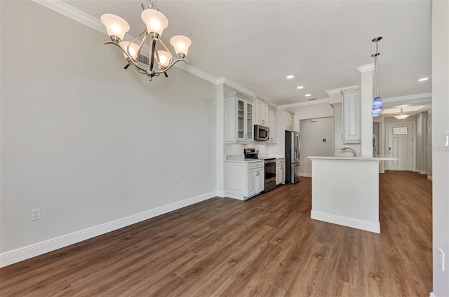
[[[333,156],[334,118],[316,118],[300,121],[300,174],[311,177],[311,160],[308,156]],[[326,142],[323,142],[326,139]]]

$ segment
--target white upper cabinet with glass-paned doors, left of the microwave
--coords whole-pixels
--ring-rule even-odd
[[[239,92],[225,95],[225,143],[254,141],[254,100]]]

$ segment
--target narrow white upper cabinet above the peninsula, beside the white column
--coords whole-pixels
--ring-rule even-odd
[[[361,88],[342,90],[344,144],[361,143]]]

